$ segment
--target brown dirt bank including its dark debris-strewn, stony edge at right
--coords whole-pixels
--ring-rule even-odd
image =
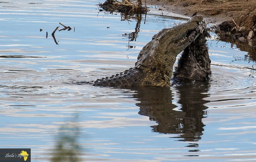
[[[147,0],[146,4],[186,16],[194,13],[203,15],[209,23],[221,24],[227,21],[229,24],[221,24],[220,32],[232,34],[237,39],[247,39],[250,31],[256,34],[256,0]]]

